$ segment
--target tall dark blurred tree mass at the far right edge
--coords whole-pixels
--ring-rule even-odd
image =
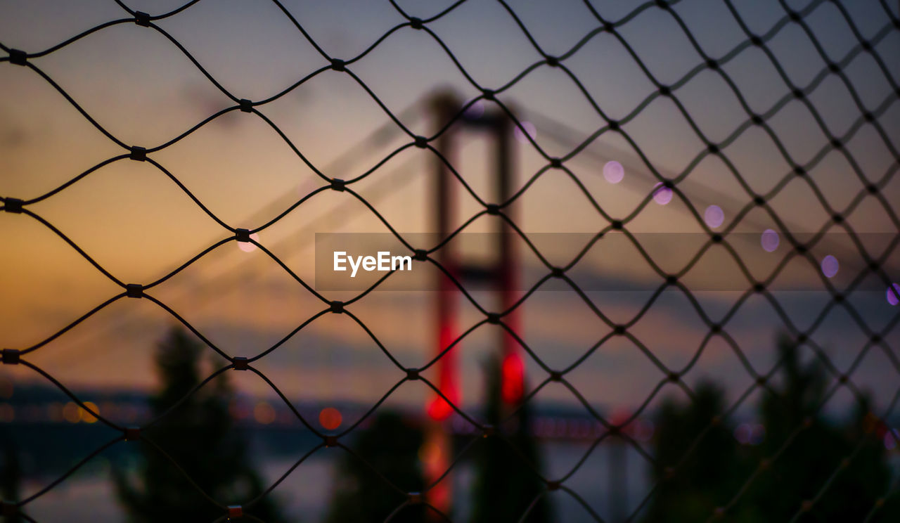
[[[819,413],[828,384],[820,360],[801,365],[797,347],[788,338],[781,339],[779,356],[784,383],[761,403],[767,437],[754,454],[757,459],[775,455],[788,438],[793,440],[753,485],[753,503],[763,515],[793,515],[803,501],[814,500],[828,478],[845,465],[825,495],[797,521],[864,520],[887,493],[891,479],[881,438],[867,427],[866,419],[873,418],[869,399],[857,403],[842,426],[833,426]],[[797,433],[801,424],[804,428]],[[851,459],[843,462],[845,458]],[[889,503],[872,521],[900,521],[898,509],[900,503]]]

